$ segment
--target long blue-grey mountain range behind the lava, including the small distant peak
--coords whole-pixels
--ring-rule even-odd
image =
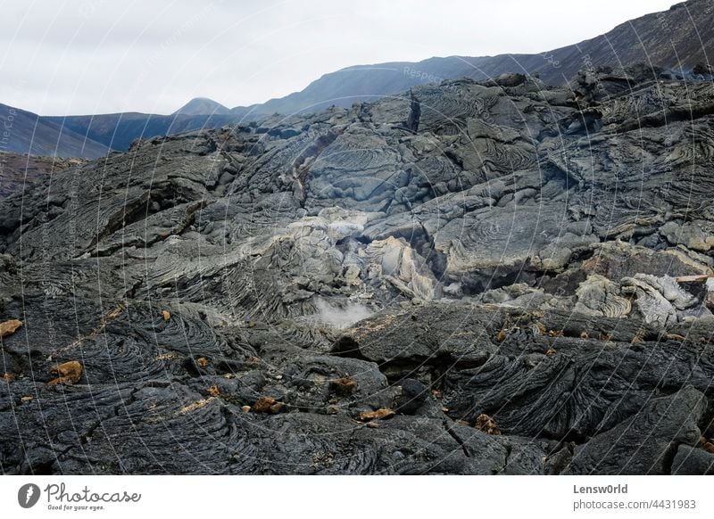
[[[171,115],[125,112],[102,115],[36,116],[41,122],[69,128],[117,151],[127,151],[137,138],[173,135],[200,128],[239,125],[261,120],[275,113],[316,112],[330,105],[349,107],[385,95],[399,95],[413,86],[444,79],[497,78],[503,73],[534,74],[546,86],[572,81],[577,70],[603,65],[632,66],[643,62],[652,68],[692,70],[707,67],[708,49],[714,47],[714,5],[709,0],[688,0],[668,11],[645,14],[625,21],[604,35],[582,40],[539,54],[498,54],[494,56],[432,57],[420,62],[384,62],[353,65],[323,74],[298,92],[265,103],[227,108],[209,98],[195,98]],[[662,38],[662,34],[666,38]],[[18,109],[19,110],[19,109]],[[199,113],[199,112],[205,113]],[[34,115],[34,114],[33,114]],[[59,145],[62,151],[82,151],[76,144]],[[13,152],[28,152],[21,146]],[[49,154],[43,148],[39,154]],[[90,148],[81,156],[95,158]]]

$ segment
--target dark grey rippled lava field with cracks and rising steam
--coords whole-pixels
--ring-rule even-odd
[[[709,474],[714,85],[505,74],[0,204],[5,474]]]

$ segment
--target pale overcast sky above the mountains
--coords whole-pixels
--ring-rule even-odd
[[[354,64],[543,52],[673,3],[0,1],[0,103],[42,115],[261,103]]]

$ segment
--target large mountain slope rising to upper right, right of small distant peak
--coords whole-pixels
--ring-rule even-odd
[[[330,104],[350,106],[410,86],[449,78],[495,78],[504,72],[537,73],[550,85],[569,81],[582,67],[630,66],[643,62],[665,69],[692,70],[714,55],[714,3],[690,0],[668,11],[627,21],[607,34],[541,54],[490,57],[450,56],[422,62],[388,62],[337,70],[301,92],[260,105],[261,113],[316,111]]]

